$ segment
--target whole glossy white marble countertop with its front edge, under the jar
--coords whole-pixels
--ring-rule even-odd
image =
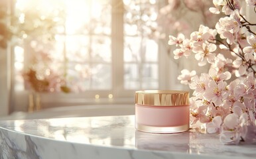
[[[152,134],[135,116],[0,121],[2,158],[256,158],[256,144],[224,145],[218,134]]]

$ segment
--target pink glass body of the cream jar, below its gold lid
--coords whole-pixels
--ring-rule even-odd
[[[173,133],[189,129],[189,105],[135,104],[135,127],[139,131]]]

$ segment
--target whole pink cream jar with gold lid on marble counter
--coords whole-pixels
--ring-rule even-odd
[[[189,92],[148,90],[135,93],[135,128],[174,133],[189,129]]]

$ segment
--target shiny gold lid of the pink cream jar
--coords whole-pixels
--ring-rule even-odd
[[[146,90],[135,92],[135,103],[151,106],[177,106],[189,104],[188,91]]]

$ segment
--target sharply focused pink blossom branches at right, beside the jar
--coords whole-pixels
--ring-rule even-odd
[[[169,36],[176,45],[174,59],[194,54],[198,65],[210,64],[208,73],[182,70],[178,79],[194,90],[190,98],[193,129],[220,133],[225,144],[256,142],[256,33],[242,13],[239,0],[213,0],[209,11],[222,15],[215,28],[200,25],[185,38]],[[256,7],[255,0],[246,5]]]

